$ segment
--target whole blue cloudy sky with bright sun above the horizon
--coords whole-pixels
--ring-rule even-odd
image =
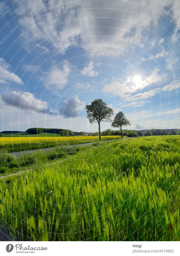
[[[179,14],[179,0],[0,0],[0,131],[96,132],[97,98],[128,129],[180,128]]]

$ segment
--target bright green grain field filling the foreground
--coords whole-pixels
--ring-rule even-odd
[[[18,241],[179,241],[180,136],[94,144],[0,181],[1,225]]]

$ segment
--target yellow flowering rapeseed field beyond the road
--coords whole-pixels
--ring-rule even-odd
[[[126,136],[124,136],[126,137]],[[121,136],[101,136],[101,141],[116,140]],[[0,137],[0,150],[18,152],[25,150],[42,149],[57,146],[68,146],[98,142],[98,136],[82,137]]]

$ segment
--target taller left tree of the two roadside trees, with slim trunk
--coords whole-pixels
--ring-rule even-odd
[[[102,99],[95,99],[90,105],[86,105],[85,108],[89,123],[93,124],[98,122],[99,139],[101,140],[100,123],[104,120],[110,120],[110,117],[113,115],[113,109],[108,107]]]

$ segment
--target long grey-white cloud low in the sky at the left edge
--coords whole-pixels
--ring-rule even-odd
[[[56,115],[55,112],[51,111],[47,107],[47,102],[37,99],[34,94],[29,92],[22,93],[21,91],[12,91],[9,94],[1,95],[2,100],[5,104],[15,106],[25,111],[32,111],[34,113],[44,113],[49,115]]]

